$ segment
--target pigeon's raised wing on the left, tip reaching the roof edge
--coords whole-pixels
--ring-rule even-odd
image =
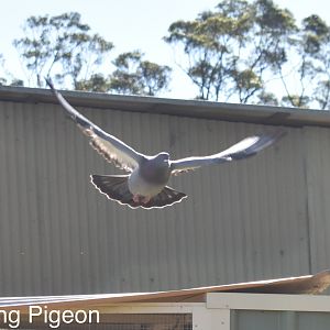
[[[90,145],[101,154],[109,163],[113,163],[117,167],[132,172],[139,166],[143,154],[138,153],[131,146],[121,140],[110,135],[85,118],[66,99],[54,88],[52,80],[46,79],[47,85],[52,88],[61,106],[66,110],[69,117],[76,122],[79,129],[91,139]]]

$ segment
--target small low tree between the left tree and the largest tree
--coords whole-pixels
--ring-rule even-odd
[[[168,86],[170,68],[143,61],[140,51],[120,54],[109,78],[109,90],[119,94],[155,96]]]

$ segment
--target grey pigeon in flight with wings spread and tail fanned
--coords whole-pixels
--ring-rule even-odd
[[[187,195],[166,186],[172,175],[205,165],[222,164],[253,156],[284,135],[283,131],[276,131],[272,134],[249,136],[226,151],[205,157],[187,157],[172,161],[166,152],[147,156],[136,152],[118,138],[102,131],[74,109],[61,92],[54,88],[51,79],[46,79],[46,82],[69,117],[90,138],[90,145],[106,161],[129,173],[128,175],[92,174],[90,179],[94,186],[109,199],[116,200],[121,205],[128,205],[131,208],[163,208],[179,202]]]

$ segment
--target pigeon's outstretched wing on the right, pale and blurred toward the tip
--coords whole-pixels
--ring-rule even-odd
[[[273,134],[249,136],[219,154],[213,154],[205,157],[187,157],[172,161],[172,174],[188,172],[205,165],[221,164],[224,162],[239,161],[251,157],[257,152],[276,142],[284,134],[285,132],[277,131]]]

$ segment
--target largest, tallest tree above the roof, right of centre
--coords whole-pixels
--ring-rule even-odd
[[[182,45],[188,57],[182,67],[199,87],[197,98],[245,103],[266,92],[297,28],[292,13],[272,0],[224,0],[215,12],[175,22],[168,31],[165,41]]]

